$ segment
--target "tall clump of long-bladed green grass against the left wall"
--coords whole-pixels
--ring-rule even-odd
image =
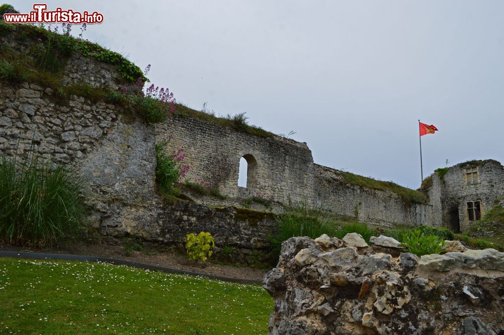
[[[72,169],[30,155],[0,156],[0,238],[47,245],[79,229],[85,217],[82,183]]]

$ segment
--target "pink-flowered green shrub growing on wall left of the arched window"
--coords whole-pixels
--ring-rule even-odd
[[[188,165],[182,165],[180,162],[185,158],[183,149],[180,148],[172,154],[167,154],[164,150],[167,142],[156,143],[156,182],[162,192],[172,193],[173,185],[178,178],[185,176],[189,169]]]

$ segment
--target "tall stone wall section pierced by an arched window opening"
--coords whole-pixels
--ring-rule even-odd
[[[183,148],[190,181],[202,180],[232,198],[273,196],[275,202],[298,206],[313,197],[313,158],[306,144],[278,136],[259,137],[203,120],[174,116],[156,124],[156,141],[167,150]],[[238,186],[240,158],[254,157],[247,187]],[[219,199],[214,199],[220,204]]]

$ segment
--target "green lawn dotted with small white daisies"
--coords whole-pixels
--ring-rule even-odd
[[[0,333],[265,334],[258,285],[105,263],[0,258]]]

